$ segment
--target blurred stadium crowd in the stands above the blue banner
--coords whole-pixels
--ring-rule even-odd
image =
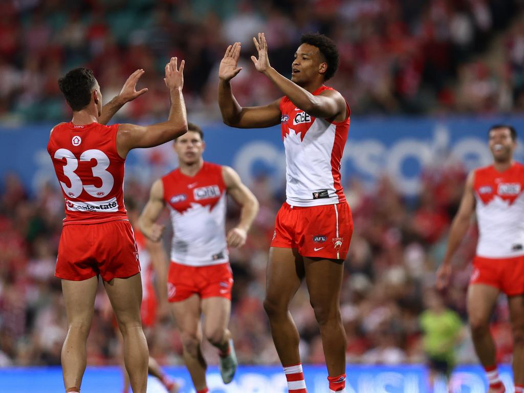
[[[124,6],[125,5],[125,6]],[[524,24],[519,0],[8,0],[0,4],[0,121],[68,115],[57,79],[95,71],[106,99],[137,68],[148,99],[121,116],[148,121],[167,110],[165,59],[187,61],[184,95],[193,119],[217,119],[217,66],[243,43],[240,102],[278,93],[250,64],[265,31],[271,64],[288,74],[300,35],[320,31],[340,50],[331,84],[353,114],[511,112],[524,107]],[[489,45],[489,43],[492,45]]]

